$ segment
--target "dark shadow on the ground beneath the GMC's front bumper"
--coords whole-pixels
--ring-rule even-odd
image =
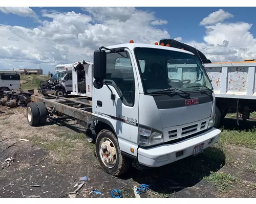
[[[198,184],[204,176],[218,171],[224,165],[224,152],[219,148],[209,147],[203,154],[163,167],[148,170],[131,169],[122,179],[132,178],[139,184],[153,184],[155,192],[171,194]]]

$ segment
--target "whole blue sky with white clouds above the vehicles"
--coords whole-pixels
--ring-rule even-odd
[[[58,63],[92,60],[102,43],[153,43],[167,37],[188,44],[193,39],[211,61],[256,58],[254,7],[2,8],[0,69],[50,70]],[[207,23],[200,25],[205,17]]]

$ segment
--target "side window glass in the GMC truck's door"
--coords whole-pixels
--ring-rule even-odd
[[[106,55],[106,83],[118,92],[122,103],[132,107],[135,97],[133,67],[127,52],[108,53]]]

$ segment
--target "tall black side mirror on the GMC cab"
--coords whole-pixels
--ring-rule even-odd
[[[103,87],[103,80],[106,79],[106,52],[104,50],[95,50],[93,55],[93,77],[94,87],[100,89]]]

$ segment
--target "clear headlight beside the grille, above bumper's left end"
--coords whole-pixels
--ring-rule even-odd
[[[140,146],[151,146],[163,142],[163,135],[154,130],[139,127],[138,144]]]

